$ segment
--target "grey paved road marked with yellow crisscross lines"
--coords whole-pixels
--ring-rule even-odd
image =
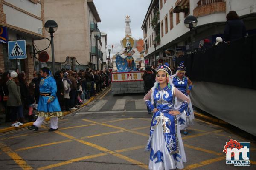
[[[113,95],[109,91],[82,110],[59,119],[59,130],[26,128],[0,134],[0,169],[143,170],[148,169],[151,115],[142,94]],[[217,125],[195,119],[183,136],[186,170],[255,170],[256,149],[251,146],[250,167],[226,164],[222,152],[229,139],[249,142]],[[252,145],[252,143],[251,143]]]

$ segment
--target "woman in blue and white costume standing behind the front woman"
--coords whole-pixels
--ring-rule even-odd
[[[188,77],[185,76],[185,73],[186,67],[184,67],[184,62],[180,62],[180,66],[177,67],[176,74],[171,76],[171,79],[174,86],[183,94],[189,97],[189,93],[192,89],[192,82]],[[179,110],[181,105],[182,100],[175,98],[175,111]],[[195,116],[192,108],[192,103],[190,102],[188,107],[177,116],[179,128],[180,130],[183,130],[183,133],[185,135],[188,134],[188,127],[193,125],[193,119],[195,119]]]

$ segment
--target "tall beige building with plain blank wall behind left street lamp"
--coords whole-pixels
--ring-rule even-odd
[[[44,11],[45,21],[55,20],[58,24],[58,30],[53,34],[55,62],[76,70],[86,67],[97,69],[98,59],[100,68],[98,51],[101,45],[100,36],[96,38],[96,30],[99,30],[97,23],[101,19],[93,0],[44,0]],[[48,32],[45,37],[50,37]],[[35,44],[41,50],[49,45],[49,41],[39,40]],[[51,47],[46,51],[51,56]]]

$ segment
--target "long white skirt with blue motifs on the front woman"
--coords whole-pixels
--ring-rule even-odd
[[[179,152],[170,154],[166,147],[166,142],[163,136],[162,122],[160,121],[154,129],[151,139],[151,149],[154,150],[149,159],[150,170],[173,170],[183,169],[183,162],[186,162],[186,154],[181,139],[179,128],[177,128]],[[152,150],[151,150],[152,151]],[[175,156],[174,156],[175,155]],[[175,159],[176,158],[176,159]]]

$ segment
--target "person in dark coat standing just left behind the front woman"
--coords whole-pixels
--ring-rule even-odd
[[[146,71],[143,74],[142,78],[144,80],[144,91],[145,94],[150,91],[150,89],[154,86],[154,82],[156,81],[156,73],[155,70],[150,66],[146,66]],[[151,109],[148,108],[148,114],[151,114]]]

